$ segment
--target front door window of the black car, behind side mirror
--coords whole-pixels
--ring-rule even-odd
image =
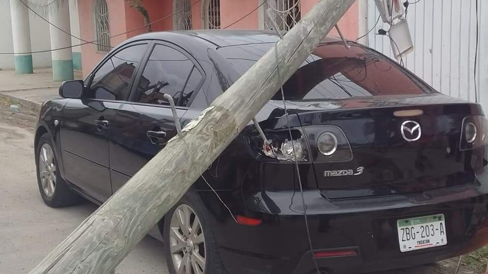
[[[86,97],[105,100],[124,100],[136,68],[147,44],[130,46],[118,51],[99,67],[87,89]]]

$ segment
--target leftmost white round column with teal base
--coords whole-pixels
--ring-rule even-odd
[[[15,72],[33,73],[31,52],[31,30],[29,28],[29,10],[18,0],[10,0],[12,18],[12,38],[14,45]]]

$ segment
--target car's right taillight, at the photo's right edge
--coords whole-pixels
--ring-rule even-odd
[[[488,119],[483,115],[463,119],[459,150],[465,151],[488,145]]]

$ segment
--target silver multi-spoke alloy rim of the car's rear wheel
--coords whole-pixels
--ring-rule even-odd
[[[205,238],[200,219],[187,204],[171,217],[169,248],[176,273],[202,274],[205,270]]]

